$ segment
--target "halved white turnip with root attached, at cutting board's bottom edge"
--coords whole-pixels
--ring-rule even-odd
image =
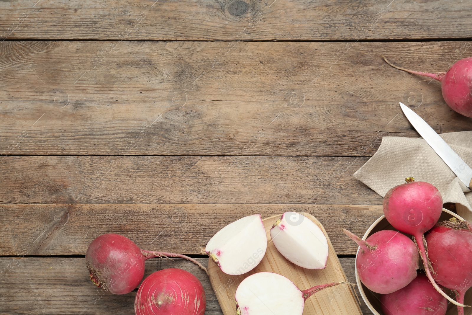
[[[286,277],[273,272],[250,275],[236,289],[237,315],[302,315],[307,298],[347,281],[320,284],[300,290]]]

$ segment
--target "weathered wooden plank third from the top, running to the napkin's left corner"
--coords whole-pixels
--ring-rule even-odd
[[[381,204],[366,157],[8,156],[1,204]],[[403,179],[408,174],[399,174]]]

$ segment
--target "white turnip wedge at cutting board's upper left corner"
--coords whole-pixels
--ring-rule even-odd
[[[239,275],[257,266],[267,250],[267,236],[261,215],[241,218],[219,230],[205,252],[222,272]]]

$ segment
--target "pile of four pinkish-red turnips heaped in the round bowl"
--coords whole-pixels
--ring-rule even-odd
[[[442,205],[436,187],[407,178],[383,202],[387,221],[398,231],[380,230],[362,240],[343,230],[360,247],[359,279],[381,294],[386,315],[445,315],[447,300],[464,315],[464,295],[472,286],[472,231],[468,222],[456,218],[438,222]],[[417,273],[420,258],[424,273]]]

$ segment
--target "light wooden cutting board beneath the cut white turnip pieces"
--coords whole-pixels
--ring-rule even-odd
[[[222,272],[218,265],[208,259],[208,272],[210,282],[219,305],[225,315],[236,315],[236,289],[244,280],[256,272],[276,272],[286,276],[293,281],[299,289],[308,289],[318,284],[329,282],[346,281],[346,274],[337,259],[333,245],[326,234],[325,229],[310,213],[303,213],[305,217],[315,222],[328,239],[329,255],[328,264],[323,270],[309,270],[296,266],[280,255],[274,244],[270,240],[270,228],[280,218],[282,214],[275,215],[262,220],[267,232],[267,252],[252,271],[238,276],[231,276]],[[346,239],[346,242],[348,239]],[[362,315],[361,309],[356,301],[353,290],[346,284],[324,289],[315,293],[305,302],[303,315]]]

